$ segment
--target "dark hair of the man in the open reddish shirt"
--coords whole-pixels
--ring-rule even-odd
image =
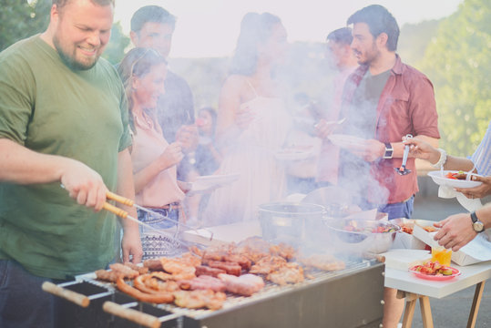
[[[395,51],[399,39],[399,26],[394,16],[382,5],[369,5],[348,18],[347,24],[365,23],[370,29],[372,36],[380,36],[385,33],[387,38],[387,49]]]

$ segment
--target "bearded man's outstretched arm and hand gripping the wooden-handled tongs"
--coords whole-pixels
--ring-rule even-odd
[[[0,181],[16,184],[60,182],[81,205],[101,210],[107,187],[101,176],[80,161],[37,153],[0,138]]]

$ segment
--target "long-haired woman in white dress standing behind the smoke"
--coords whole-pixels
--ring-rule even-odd
[[[240,178],[211,194],[205,226],[254,220],[258,205],[284,196],[284,171],[274,152],[285,142],[290,118],[272,73],[287,47],[280,18],[269,13],[243,17],[217,122],[223,155],[218,173]]]

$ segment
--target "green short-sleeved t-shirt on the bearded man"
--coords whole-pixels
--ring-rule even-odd
[[[118,73],[99,59],[73,71],[32,36],[0,53],[0,138],[39,153],[77,159],[116,190],[126,149],[128,103]],[[38,276],[63,279],[107,265],[116,218],[77,204],[59,182],[0,182],[0,259]]]

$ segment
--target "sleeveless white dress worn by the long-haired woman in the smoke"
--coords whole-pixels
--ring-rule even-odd
[[[218,174],[239,173],[240,178],[210,196],[203,214],[204,226],[257,220],[258,205],[281,200],[286,190],[284,169],[274,158],[291,125],[283,101],[256,97],[240,105],[253,115],[250,126],[223,154]]]

